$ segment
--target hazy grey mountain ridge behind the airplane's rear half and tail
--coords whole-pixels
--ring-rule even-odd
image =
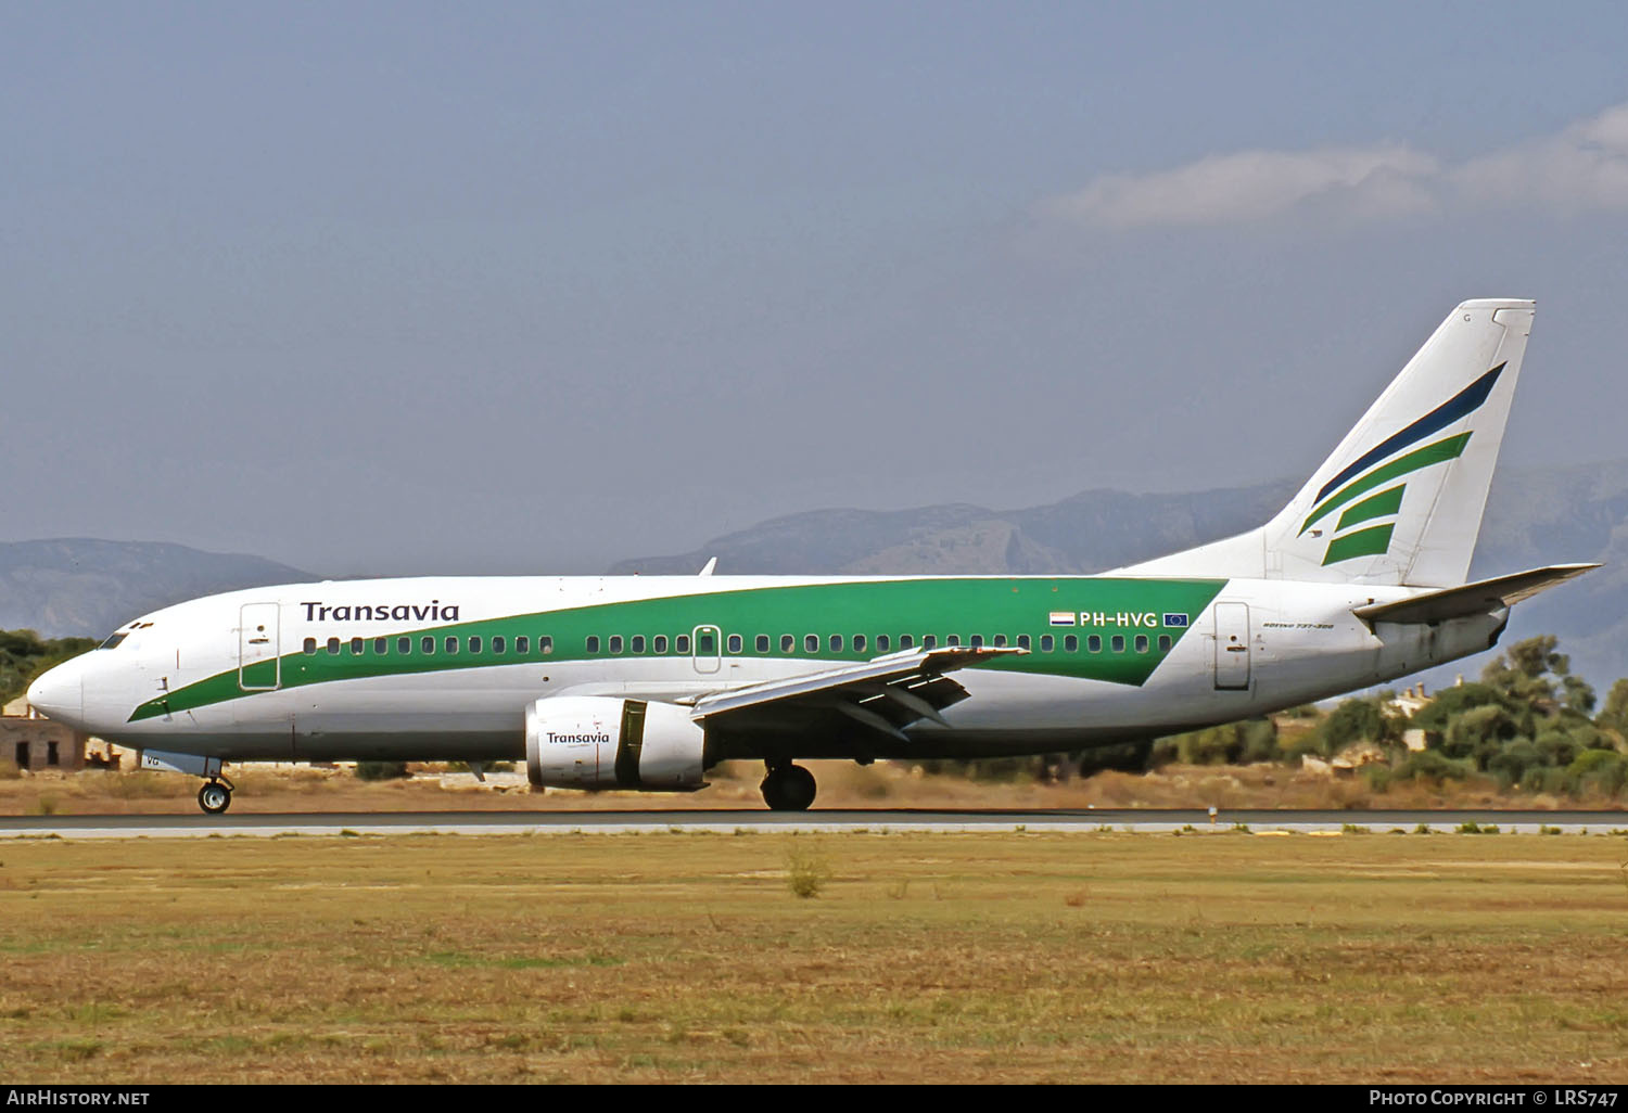
[[[627,560],[612,571],[687,574],[716,556],[721,574],[1083,574],[1252,529],[1296,490],[1281,480],[1182,495],[1092,490],[1024,509],[824,509],[726,534],[690,553]],[[1628,460],[1499,472],[1493,480],[1470,574],[1568,561],[1607,566],[1517,607],[1504,641],[1558,635],[1573,669],[1604,695],[1628,675]]]

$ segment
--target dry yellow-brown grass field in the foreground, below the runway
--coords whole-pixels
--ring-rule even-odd
[[[1625,858],[1377,831],[13,840],[0,1076],[1623,1082]]]

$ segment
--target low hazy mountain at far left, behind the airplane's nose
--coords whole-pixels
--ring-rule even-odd
[[[0,630],[103,636],[158,607],[238,587],[316,579],[260,556],[85,537],[0,542]]]

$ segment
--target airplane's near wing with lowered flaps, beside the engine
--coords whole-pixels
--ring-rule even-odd
[[[858,664],[807,672],[698,696],[690,718],[731,734],[801,734],[830,716],[908,742],[904,727],[921,719],[944,722],[939,711],[967,698],[947,672],[982,661],[1024,654],[1013,646],[905,649]]]

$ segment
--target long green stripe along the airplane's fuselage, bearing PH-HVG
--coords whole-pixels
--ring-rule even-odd
[[[690,636],[697,626],[718,626],[724,657],[783,657],[807,661],[822,667],[842,661],[868,661],[879,653],[877,635],[900,649],[900,635],[925,636],[938,644],[957,638],[970,644],[982,636],[985,644],[1017,644],[1027,635],[1034,649],[1024,656],[1000,657],[975,666],[978,669],[1048,674],[1141,685],[1195,625],[1210,602],[1226,586],[1224,579],[900,579],[834,584],[794,584],[786,587],[749,587],[705,594],[666,596],[627,602],[594,604],[565,610],[544,610],[479,622],[441,626],[386,628],[379,623],[358,626],[344,622],[290,622],[283,633],[291,643],[316,641],[317,653],[290,653],[280,659],[283,688],[296,688],[335,680],[451,672],[508,664],[614,662],[625,674],[630,657],[679,657],[679,636]],[[335,586],[335,592],[344,586]],[[285,605],[283,613],[290,613]],[[1052,625],[1052,618],[1070,617],[1073,625]],[[790,653],[781,651],[781,636],[794,638]],[[817,649],[806,646],[807,635],[819,638]],[[832,636],[840,636],[840,648]],[[855,649],[855,635],[866,638],[864,649]],[[352,653],[352,638],[361,638],[361,653]],[[420,639],[433,636],[436,653],[422,653]],[[539,639],[550,639],[550,653],[539,654]],[[643,653],[632,653],[632,639],[643,638]],[[654,638],[667,639],[664,654],[653,653]],[[739,649],[729,638],[739,636]],[[760,651],[757,638],[768,638]],[[339,653],[327,653],[330,638],[339,639]],[[374,653],[374,638],[386,639],[386,653]],[[397,639],[410,638],[412,651],[399,654]],[[444,653],[444,639],[457,638],[459,653]],[[470,638],[480,638],[482,653],[470,653]],[[505,654],[492,653],[492,639],[501,638]],[[527,638],[527,656],[514,653],[514,639]],[[589,643],[589,639],[594,643]],[[620,653],[610,653],[612,638],[620,639]],[[1052,649],[1042,639],[1052,639]],[[1068,639],[1073,639],[1070,643]],[[1091,639],[1099,649],[1089,649]],[[1162,639],[1169,638],[1167,643]],[[1122,641],[1115,641],[1122,639]],[[589,644],[596,651],[589,651]],[[1073,644],[1073,649],[1068,646]],[[1164,648],[1169,646],[1169,648]],[[270,669],[259,669],[272,675]],[[254,677],[260,679],[259,674]],[[251,680],[252,683],[252,680]],[[158,700],[140,705],[132,721],[225,703],[243,696],[239,670],[231,669],[177,688]]]

